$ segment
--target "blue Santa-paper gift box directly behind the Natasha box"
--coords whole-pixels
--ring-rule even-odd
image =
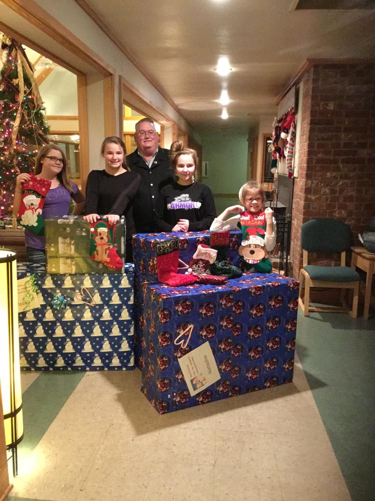
[[[148,284],[158,283],[156,245],[158,242],[178,237],[179,258],[188,264],[190,258],[195,253],[196,247],[200,243],[211,245],[214,248],[224,249],[224,254],[228,264],[238,266],[240,256],[238,247],[241,244],[242,233],[238,231],[227,231],[223,233],[210,233],[205,231],[191,231],[188,233],[139,233],[133,235],[133,259],[135,264],[135,308],[134,308],[134,353],[135,364],[139,367],[139,357],[141,354],[142,329],[139,325],[144,309],[144,292]],[[182,265],[181,265],[182,266]],[[185,273],[180,270],[179,273]]]

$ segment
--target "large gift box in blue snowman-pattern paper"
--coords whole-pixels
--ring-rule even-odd
[[[132,370],[133,265],[124,271],[47,275],[42,265],[18,264],[18,279],[35,274],[40,303],[18,314],[21,369]]]

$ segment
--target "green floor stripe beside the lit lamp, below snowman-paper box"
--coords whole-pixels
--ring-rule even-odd
[[[47,372],[33,381],[22,395],[24,438],[18,446],[33,450],[62,406],[75,390],[84,372]]]

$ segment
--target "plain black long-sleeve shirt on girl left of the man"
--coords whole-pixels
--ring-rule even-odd
[[[112,176],[105,170],[92,170],[87,177],[85,214],[124,215],[126,239],[135,233],[132,201],[140,183],[136,172],[126,171]]]

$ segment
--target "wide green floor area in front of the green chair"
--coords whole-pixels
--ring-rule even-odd
[[[297,325],[297,353],[350,495],[374,499],[375,320],[298,312]]]

